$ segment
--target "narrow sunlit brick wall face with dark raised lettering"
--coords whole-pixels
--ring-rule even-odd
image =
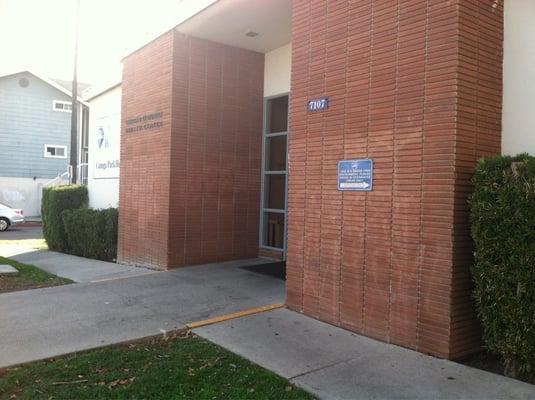
[[[118,259],[168,265],[173,34],[123,63]],[[163,126],[126,133],[126,121],[162,112]],[[135,126],[137,124],[133,124]]]

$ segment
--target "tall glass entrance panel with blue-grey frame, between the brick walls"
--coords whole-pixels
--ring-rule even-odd
[[[260,248],[286,258],[288,95],[264,102]]]

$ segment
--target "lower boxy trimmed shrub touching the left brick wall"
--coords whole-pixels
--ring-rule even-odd
[[[69,253],[103,261],[117,257],[116,208],[80,208],[62,213]]]

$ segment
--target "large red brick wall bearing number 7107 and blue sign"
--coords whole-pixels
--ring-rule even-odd
[[[441,357],[477,347],[466,196],[500,146],[494,4],[293,2],[291,308]],[[374,190],[337,191],[338,160],[368,157]]]

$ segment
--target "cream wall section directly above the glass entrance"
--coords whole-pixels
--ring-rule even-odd
[[[266,53],[264,64],[264,97],[290,91],[292,44]]]

